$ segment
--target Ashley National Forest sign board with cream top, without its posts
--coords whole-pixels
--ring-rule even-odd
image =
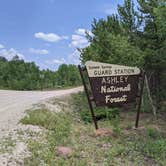
[[[117,107],[135,102],[139,68],[92,61],[85,66],[96,106]]]

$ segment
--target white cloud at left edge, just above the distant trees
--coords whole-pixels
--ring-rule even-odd
[[[3,56],[7,58],[8,60],[11,60],[14,56],[18,56],[20,59],[25,59],[25,56],[21,53],[19,53],[16,49],[10,48],[9,50],[7,49],[1,49],[0,50],[0,56]]]

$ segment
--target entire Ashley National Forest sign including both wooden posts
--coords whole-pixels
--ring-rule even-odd
[[[143,70],[141,72],[137,67],[92,61],[86,62],[85,66],[86,68],[78,65],[78,68],[87,95],[95,128],[98,129],[98,124],[92,102],[95,102],[96,106],[119,107],[127,103],[135,102],[138,95],[137,116],[135,122],[135,127],[137,128],[140,116],[145,72]],[[87,72],[88,74],[93,98],[90,95],[91,93],[89,93],[83,74],[84,72]]]

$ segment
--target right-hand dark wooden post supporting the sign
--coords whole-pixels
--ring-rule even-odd
[[[138,108],[137,108],[137,117],[136,117],[136,122],[135,122],[135,128],[138,128],[138,123],[139,123],[142,96],[143,96],[143,90],[144,90],[144,82],[145,82],[145,71],[142,71],[142,83],[141,83],[141,89],[140,89],[140,96],[139,96],[139,100],[138,100]]]

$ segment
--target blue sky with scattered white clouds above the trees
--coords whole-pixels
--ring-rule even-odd
[[[78,64],[93,18],[116,12],[123,0],[0,0],[0,56],[15,54],[41,69]]]

